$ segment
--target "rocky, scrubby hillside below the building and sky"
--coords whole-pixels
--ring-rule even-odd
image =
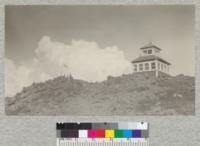
[[[60,76],[6,98],[8,115],[191,115],[194,77],[153,72],[89,83]]]

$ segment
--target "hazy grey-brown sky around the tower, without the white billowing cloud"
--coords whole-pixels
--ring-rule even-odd
[[[152,41],[172,63],[172,75],[195,72],[194,6],[7,6],[5,28],[6,58],[16,66],[34,58],[47,36],[46,42],[66,45],[116,46],[128,61]]]

